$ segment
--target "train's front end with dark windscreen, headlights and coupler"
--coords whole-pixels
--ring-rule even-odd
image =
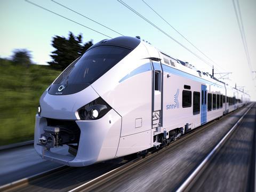
[[[115,158],[122,117],[93,85],[102,76],[115,74],[117,63],[139,44],[139,39],[130,37],[101,41],[45,90],[39,100],[34,138],[42,158],[69,166]]]

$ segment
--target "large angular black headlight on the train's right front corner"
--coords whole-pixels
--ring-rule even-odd
[[[111,107],[99,97],[78,109],[78,115],[82,120],[99,119],[106,115],[110,109]]]

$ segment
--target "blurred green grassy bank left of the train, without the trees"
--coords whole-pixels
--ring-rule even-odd
[[[33,140],[39,98],[60,71],[3,59],[0,71],[0,146]]]

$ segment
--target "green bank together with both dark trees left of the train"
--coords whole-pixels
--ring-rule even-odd
[[[52,61],[37,65],[31,51],[15,49],[10,58],[0,59],[0,145],[32,140],[39,98],[71,62],[82,55],[92,42],[82,43],[82,35],[52,39]]]

